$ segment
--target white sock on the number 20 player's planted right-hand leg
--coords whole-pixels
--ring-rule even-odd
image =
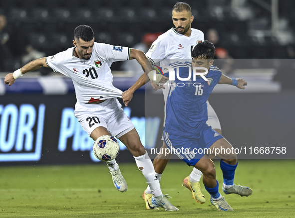
[[[162,195],[159,179],[157,178],[153,163],[149,158],[147,151],[145,151],[144,155],[134,158],[136,165],[145,177],[153,196],[158,197]]]

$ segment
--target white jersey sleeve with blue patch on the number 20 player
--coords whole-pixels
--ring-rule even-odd
[[[114,46],[103,44],[101,52],[104,53],[104,57],[107,61],[126,61],[130,59],[130,48],[122,46]]]

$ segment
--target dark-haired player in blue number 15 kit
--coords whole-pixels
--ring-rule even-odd
[[[191,66],[180,62],[170,65],[175,69],[176,87],[167,99],[163,134],[166,145],[174,153],[189,166],[194,166],[203,173],[203,183],[211,195],[211,204],[219,211],[233,211],[218,191],[219,184],[216,180],[214,163],[206,154],[210,153],[221,158],[222,189],[226,195],[235,193],[249,196],[252,190],[234,184],[235,170],[238,165],[237,155],[232,145],[206,124],[208,119],[206,101],[213,88],[216,84],[232,82],[231,78],[221,79],[221,71],[212,65],[214,54],[214,45],[205,41],[198,43],[193,49]],[[204,77],[193,73],[195,67],[208,70],[205,75],[207,81]],[[204,71],[195,70],[197,74]],[[166,73],[164,76],[169,75]]]

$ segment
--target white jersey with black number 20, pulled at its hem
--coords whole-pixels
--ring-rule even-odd
[[[47,57],[46,64],[72,79],[77,102],[121,98],[122,91],[113,86],[110,66],[115,61],[129,60],[130,49],[94,42],[90,59],[84,60],[74,56],[74,48]]]

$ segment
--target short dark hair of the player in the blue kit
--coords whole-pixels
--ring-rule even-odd
[[[215,55],[215,47],[212,42],[202,41],[199,42],[192,52],[192,58],[210,59],[212,60]]]

